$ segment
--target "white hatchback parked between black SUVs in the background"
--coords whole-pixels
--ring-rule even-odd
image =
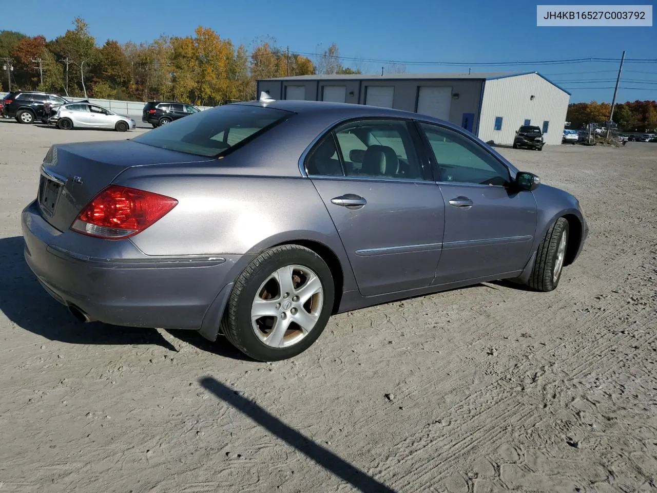
[[[132,118],[116,114],[102,106],[91,103],[68,103],[57,108],[57,113],[48,119],[57,128],[70,130],[72,128],[112,128],[124,132],[137,127]]]

